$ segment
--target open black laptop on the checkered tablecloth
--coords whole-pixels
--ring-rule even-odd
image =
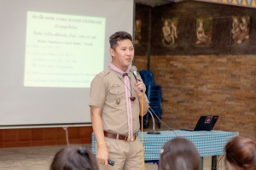
[[[215,123],[218,120],[218,116],[200,116],[198,122],[195,125],[194,130],[192,129],[180,129],[185,131],[211,131]]]

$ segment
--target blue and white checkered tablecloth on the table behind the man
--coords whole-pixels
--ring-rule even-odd
[[[218,156],[224,154],[224,145],[238,132],[224,131],[175,131],[177,137],[189,139],[195,144],[201,157]],[[139,133],[141,139],[142,133]],[[160,134],[143,133],[144,159],[145,161],[159,160],[161,147],[170,139],[174,139],[172,131],[160,131]],[[92,133],[91,150],[96,153],[96,139]]]

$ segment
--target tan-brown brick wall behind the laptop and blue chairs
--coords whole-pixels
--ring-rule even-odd
[[[170,127],[193,128],[199,116],[219,115],[215,130],[255,136],[255,55],[151,56],[150,68]]]

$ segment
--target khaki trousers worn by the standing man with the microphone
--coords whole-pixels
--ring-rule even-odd
[[[108,165],[108,170],[142,170],[142,143],[139,138],[133,142],[105,137],[108,148],[108,159],[115,161],[114,166]],[[96,153],[98,148],[96,147]],[[98,163],[100,170],[105,165]],[[144,164],[143,164],[144,165]]]

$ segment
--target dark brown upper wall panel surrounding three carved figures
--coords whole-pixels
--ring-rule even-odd
[[[249,40],[234,44],[233,16],[250,16]],[[212,17],[212,43],[196,44],[196,20]],[[177,40],[174,45],[162,43],[164,20],[177,18]],[[217,3],[185,1],[152,9],[151,55],[173,54],[255,54],[256,8],[242,8]]]

